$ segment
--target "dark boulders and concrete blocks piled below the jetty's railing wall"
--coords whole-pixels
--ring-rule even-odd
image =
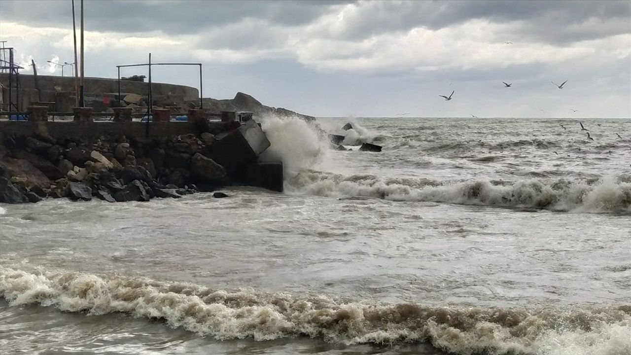
[[[282,191],[282,163],[257,162],[269,141],[255,121],[217,127],[202,120],[198,133],[91,141],[3,133],[0,202],[149,201],[243,184]]]

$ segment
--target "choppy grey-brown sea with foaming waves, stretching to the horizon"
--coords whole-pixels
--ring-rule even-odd
[[[317,122],[284,193],[0,204],[0,352],[631,354],[631,119]]]

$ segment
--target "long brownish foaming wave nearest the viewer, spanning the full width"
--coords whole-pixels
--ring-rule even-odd
[[[631,352],[631,306],[567,312],[345,302],[6,267],[0,267],[0,292],[10,306],[40,304],[87,315],[122,312],[220,340],[302,336],[343,344],[429,342],[461,355]]]

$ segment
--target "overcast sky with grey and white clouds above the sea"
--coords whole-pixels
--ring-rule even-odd
[[[86,0],[85,28],[86,76],[151,52],[203,63],[204,97],[314,116],[631,117],[628,0]],[[46,61],[73,61],[71,0],[0,1],[0,40],[61,75]],[[194,67],[152,75],[198,87]]]

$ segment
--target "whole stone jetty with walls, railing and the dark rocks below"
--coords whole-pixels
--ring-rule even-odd
[[[0,111],[4,203],[148,201],[235,185],[283,191],[283,163],[259,159],[270,142],[256,118],[313,119],[245,93],[206,99],[196,88],[152,83],[150,96],[138,78],[85,78],[85,107],[77,107],[73,78],[20,76],[9,92],[0,75],[0,96],[12,105]]]

